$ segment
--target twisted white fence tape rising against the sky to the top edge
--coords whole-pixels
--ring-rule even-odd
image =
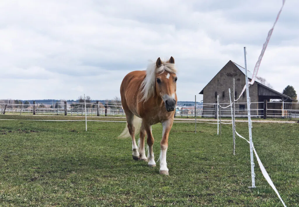
[[[265,43],[263,44],[263,49],[262,49],[262,51],[261,51],[261,53],[260,53],[260,56],[259,56],[259,58],[258,58],[258,60],[257,60],[257,63],[256,63],[255,66],[254,66],[254,71],[253,71],[253,74],[252,74],[252,78],[251,78],[251,81],[250,81],[250,83],[249,83],[249,84],[251,84],[251,85],[254,84],[254,81],[255,81],[255,79],[256,79],[256,77],[257,77],[257,72],[258,72],[258,70],[259,70],[259,68],[260,68],[260,63],[261,63],[261,61],[262,61],[262,58],[263,58],[264,53],[265,53],[265,51],[266,51],[266,48],[267,48],[267,45],[268,45],[268,43],[269,43],[270,37],[271,37],[272,32],[273,32],[273,30],[274,30],[274,26],[275,26],[275,24],[276,24],[276,22],[277,22],[277,20],[278,20],[278,18],[279,18],[279,16],[280,16],[280,13],[281,13],[281,10],[282,10],[282,8],[283,8],[283,6],[284,6],[284,3],[285,3],[285,0],[282,1],[282,6],[281,6],[281,8],[280,8],[280,10],[279,10],[279,12],[278,12],[278,14],[277,14],[276,20],[275,20],[275,22],[274,22],[272,28],[271,28],[271,29],[269,30],[269,32],[268,32],[268,36],[267,36],[267,38],[266,38],[266,41],[265,41]],[[242,94],[244,93],[245,89],[246,89],[246,85],[244,86],[242,92],[240,93],[239,98],[242,96]],[[237,100],[235,100],[235,101],[238,101],[239,98],[238,98]]]

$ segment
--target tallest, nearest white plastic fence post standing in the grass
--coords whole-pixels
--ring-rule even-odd
[[[247,64],[246,64],[246,48],[244,47],[244,62],[245,62],[245,78],[246,78],[246,95],[247,95],[247,112],[248,112],[248,130],[249,130],[249,143],[250,143],[250,163],[251,163],[251,183],[252,186],[249,188],[255,188],[254,181],[254,162],[253,162],[253,143],[252,143],[252,133],[251,133],[251,116],[250,116],[250,98],[249,98],[249,85],[248,85],[248,75],[247,75]]]

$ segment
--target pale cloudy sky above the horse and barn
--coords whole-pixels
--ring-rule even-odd
[[[130,71],[174,57],[178,101],[232,60],[253,71],[282,0],[0,1],[0,99],[120,97]],[[258,76],[299,93],[299,1],[286,0]]]

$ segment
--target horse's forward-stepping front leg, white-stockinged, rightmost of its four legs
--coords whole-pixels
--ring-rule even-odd
[[[167,120],[162,122],[163,126],[163,133],[162,133],[162,140],[161,140],[161,152],[160,152],[160,174],[168,175],[168,168],[166,162],[166,152],[168,148],[168,136],[170,129],[172,127],[173,120]]]

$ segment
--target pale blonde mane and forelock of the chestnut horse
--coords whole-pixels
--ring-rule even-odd
[[[147,101],[155,92],[156,74],[164,73],[165,71],[169,73],[176,74],[177,69],[174,63],[168,63],[167,61],[162,61],[161,66],[157,68],[156,63],[149,63],[146,70],[146,76],[141,83],[141,100]]]

